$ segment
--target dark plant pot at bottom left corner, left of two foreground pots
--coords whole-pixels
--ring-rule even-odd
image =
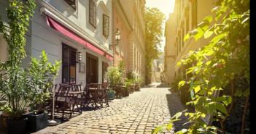
[[[24,119],[22,118],[20,120],[7,119],[7,133],[8,134],[26,133],[27,121],[28,121],[28,118],[24,118]]]

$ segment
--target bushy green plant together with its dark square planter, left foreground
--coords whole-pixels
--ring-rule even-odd
[[[57,75],[60,67],[60,62],[50,64],[47,59],[47,54],[42,51],[39,59],[32,58],[28,68],[30,80],[34,85],[32,97],[29,98],[31,114],[28,114],[28,130],[36,132],[48,126],[47,113],[44,112],[44,103],[50,98],[47,89],[53,86],[53,80]]]

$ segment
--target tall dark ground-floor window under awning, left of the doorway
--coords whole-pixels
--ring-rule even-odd
[[[62,47],[62,83],[76,82],[77,49],[63,43]]]

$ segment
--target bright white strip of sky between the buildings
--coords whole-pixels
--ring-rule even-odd
[[[174,4],[175,4],[175,0],[146,0],[146,7],[156,7],[160,9],[160,11],[166,15],[166,20],[168,20],[169,14],[174,12]],[[166,22],[166,20],[164,21],[164,23]],[[165,27],[165,24],[163,24],[163,33],[164,33],[164,27]],[[161,51],[164,50],[164,46],[166,45],[164,34],[162,39],[163,41],[161,42],[161,47],[160,47]]]

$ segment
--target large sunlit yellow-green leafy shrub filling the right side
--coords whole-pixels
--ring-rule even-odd
[[[249,0],[222,0],[212,9],[213,15],[205,17],[195,30],[185,35],[185,41],[192,37],[196,41],[209,38],[209,43],[198,51],[192,51],[178,65],[193,64],[187,68],[190,80],[179,82],[179,88],[189,84],[189,91],[195,93],[187,105],[194,106],[195,112],[185,112],[190,127],[177,133],[225,133],[225,122],[233,108],[233,98],[238,95],[249,100]],[[234,85],[244,78],[244,85]],[[229,90],[230,92],[225,93]],[[217,96],[220,93],[220,96]],[[220,122],[220,127],[204,122]],[[241,122],[244,122],[241,121]],[[244,133],[244,123],[241,125]]]

